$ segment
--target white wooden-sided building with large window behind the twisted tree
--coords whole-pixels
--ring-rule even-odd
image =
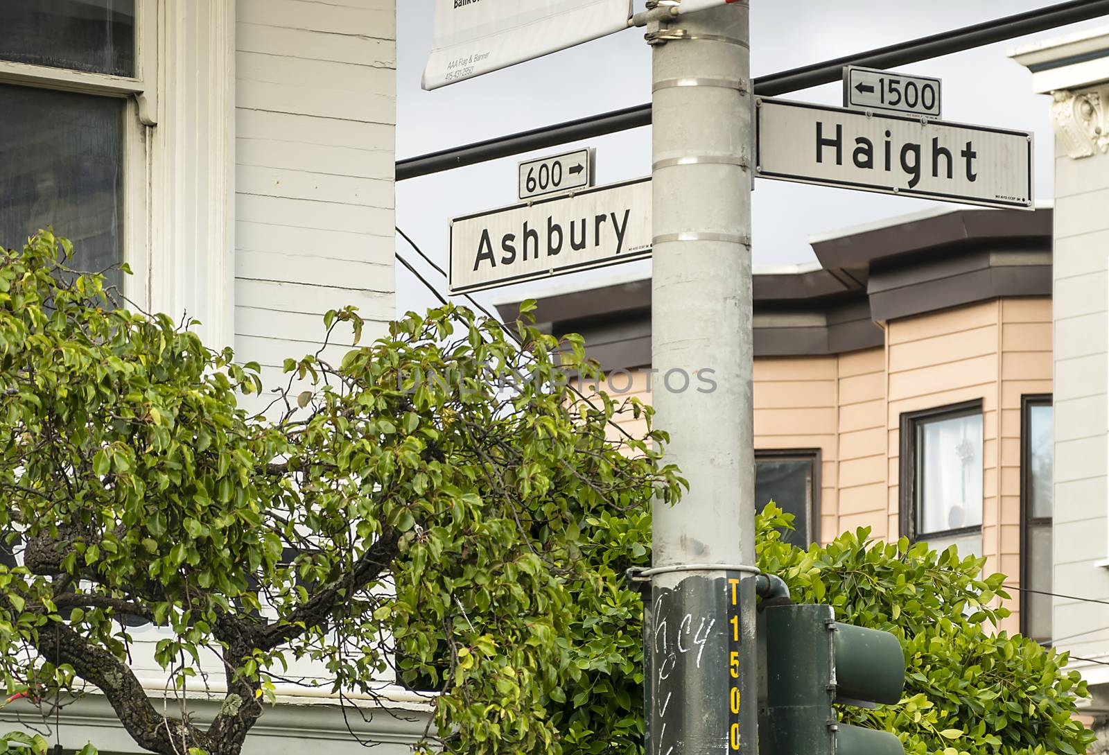
[[[4,0],[0,28],[0,191],[12,200],[0,243],[53,224],[98,261],[129,263],[134,303],[200,319],[206,343],[258,361],[267,380],[318,348],[330,308],[355,304],[364,339],[384,335],[395,312],[395,0]],[[82,57],[58,29],[102,48]],[[67,131],[64,109],[87,131]],[[140,631],[139,644],[156,632]],[[162,696],[164,674],[142,647],[134,665]],[[388,755],[424,734],[425,701],[399,687],[387,692],[406,713],[372,720],[344,716],[324,690],[283,687],[243,752],[362,752],[353,731]],[[217,701],[193,695],[190,711],[203,722]],[[96,695],[59,723],[67,749],[91,739],[141,752]]]

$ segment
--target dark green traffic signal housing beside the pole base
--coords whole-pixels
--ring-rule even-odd
[[[841,724],[833,703],[901,700],[905,659],[889,632],[835,621],[831,605],[764,604],[760,755],[905,755],[888,732]]]

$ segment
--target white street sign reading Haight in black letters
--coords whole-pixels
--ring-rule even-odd
[[[788,100],[755,99],[755,175],[1032,208],[1032,135]]]

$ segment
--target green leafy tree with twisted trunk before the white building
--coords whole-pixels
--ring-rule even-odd
[[[610,524],[591,522],[642,552],[623,522],[682,484],[662,433],[611,438],[620,407],[567,389],[566,369],[590,374],[581,339],[519,324],[520,347],[466,309],[409,314],[340,364],[287,360],[263,416],[241,405],[260,400],[257,365],[119,306],[70,253],[40,232],[0,259],[9,694],[95,687],[149,751],[234,755],[284,663],[309,657],[337,692],[379,694],[389,666],[439,691],[429,746],[558,752],[551,701],[606,667],[582,664],[579,599],[635,608],[597,551]],[[353,308],[324,320],[357,344]],[[173,688],[203,686],[201,656],[218,654],[211,725],[151,703],[128,665],[135,621],[161,628]]]

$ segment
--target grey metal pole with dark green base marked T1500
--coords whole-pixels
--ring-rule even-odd
[[[690,491],[653,512],[652,755],[756,755],[745,1],[652,25],[652,404]]]

